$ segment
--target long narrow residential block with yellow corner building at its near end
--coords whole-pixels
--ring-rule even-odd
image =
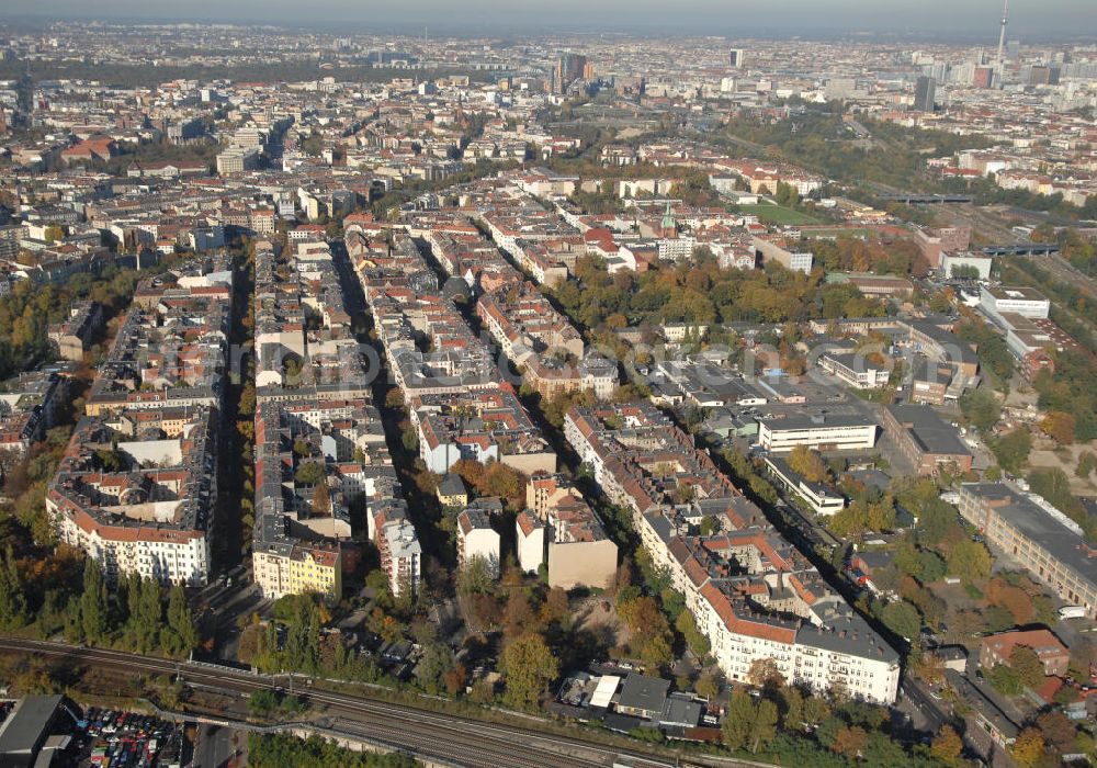
[[[256,584],[265,597],[319,592],[338,600],[360,554],[350,507],[394,594],[415,590],[419,549],[371,404],[371,380],[328,246],[256,253]]]

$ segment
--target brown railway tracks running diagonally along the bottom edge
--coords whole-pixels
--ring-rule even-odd
[[[244,670],[216,665],[182,663],[176,664],[162,658],[136,654],[83,648],[24,639],[0,639],[0,652],[34,654],[78,662],[81,666],[94,666],[135,673],[171,675],[179,670],[185,681],[216,687],[226,691],[247,694],[259,689],[274,687],[270,678],[252,675]],[[280,685],[284,680],[279,681]],[[574,737],[545,734],[531,727],[519,727],[498,723],[487,723],[472,718],[443,714],[417,709],[406,704],[393,704],[371,699],[363,691],[359,696],[331,693],[309,685],[303,678],[294,684],[294,692],[304,696],[312,703],[324,707],[329,718],[339,722],[339,727],[354,735],[388,746],[414,753],[422,758],[440,760],[454,766],[470,768],[557,768],[558,766],[602,767],[610,766],[619,755],[651,761],[654,766],[669,766],[666,758],[653,757],[640,750],[614,749],[586,742],[581,733]],[[224,752],[219,746],[213,749],[212,758],[220,759]],[[736,761],[715,761],[720,765],[736,765]],[[745,765],[745,764],[737,764]]]

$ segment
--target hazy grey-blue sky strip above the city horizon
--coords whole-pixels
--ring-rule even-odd
[[[746,35],[841,32],[997,36],[1002,0],[3,0],[18,15],[305,23],[429,24],[465,32],[539,26]],[[18,10],[16,10],[18,9]],[[1010,38],[1097,36],[1097,0],[1013,0]]]

